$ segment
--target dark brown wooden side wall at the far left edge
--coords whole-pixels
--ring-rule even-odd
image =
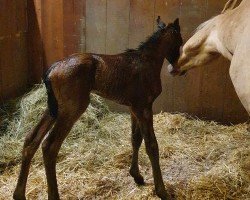
[[[0,101],[28,83],[26,0],[0,1]]]

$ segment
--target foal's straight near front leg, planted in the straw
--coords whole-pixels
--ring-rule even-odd
[[[145,141],[146,152],[152,165],[156,194],[161,199],[169,199],[169,195],[166,192],[163,183],[159,164],[159,149],[153,128],[152,105],[148,106],[145,109],[135,109],[135,113],[139,120],[140,130]]]

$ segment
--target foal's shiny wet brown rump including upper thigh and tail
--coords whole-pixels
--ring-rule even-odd
[[[53,64],[44,82],[48,93],[50,113],[74,113],[89,101],[94,84],[95,61],[88,54],[74,54]]]

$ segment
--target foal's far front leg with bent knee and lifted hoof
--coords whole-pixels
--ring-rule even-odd
[[[134,178],[135,182],[139,185],[144,185],[144,179],[139,171],[138,166],[138,153],[142,143],[142,135],[140,132],[140,127],[137,122],[136,117],[131,113],[131,126],[132,126],[132,135],[131,142],[133,147],[132,163],[129,170],[130,175]]]

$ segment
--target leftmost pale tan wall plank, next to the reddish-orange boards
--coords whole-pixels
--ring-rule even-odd
[[[107,0],[86,0],[86,51],[106,52]]]

